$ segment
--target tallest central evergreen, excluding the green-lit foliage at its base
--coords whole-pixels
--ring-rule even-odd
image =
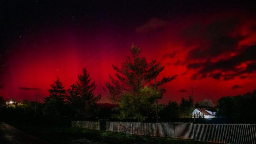
[[[116,71],[117,79],[114,79],[111,75],[109,75],[112,84],[106,83],[107,89],[103,88],[103,90],[108,94],[108,100],[114,104],[123,104],[124,102],[122,102],[122,100],[127,100],[126,97],[129,97],[128,99],[130,100],[130,106],[127,108],[133,108],[136,106],[136,103],[131,103],[132,101],[136,102],[136,100],[131,100],[131,98],[137,100],[139,100],[138,98],[143,99],[143,97],[140,96],[140,91],[147,85],[153,87],[155,90],[161,93],[159,96],[155,97],[155,101],[161,99],[163,93],[165,92],[162,85],[177,77],[177,75],[168,76],[164,77],[158,82],[155,82],[154,80],[159,73],[164,70],[164,67],[160,63],[157,63],[156,60],[148,63],[146,59],[140,55],[140,48],[134,44],[132,44],[130,50],[132,57],[127,57],[127,59],[122,63],[121,68],[112,65],[113,69]],[[125,116],[137,117],[137,113],[133,110],[125,111],[132,111],[134,113],[123,114],[125,111],[122,111],[124,108],[121,106],[122,105],[119,106],[119,110],[121,110],[120,114],[123,118],[125,118]]]

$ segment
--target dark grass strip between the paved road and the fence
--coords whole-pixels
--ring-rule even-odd
[[[109,144],[210,144],[208,142],[198,142],[193,140],[155,138],[69,127],[22,127],[18,129],[52,144],[71,143],[78,139],[87,139]]]

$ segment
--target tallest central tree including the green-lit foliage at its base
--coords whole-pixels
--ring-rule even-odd
[[[147,117],[146,113],[149,113],[153,104],[162,98],[165,92],[164,87],[162,87],[163,84],[172,81],[177,75],[164,77],[156,82],[156,77],[164,70],[164,67],[156,60],[148,63],[146,58],[140,56],[140,48],[134,44],[130,50],[132,57],[127,57],[121,68],[112,65],[116,71],[117,79],[109,75],[112,84],[106,83],[107,89],[103,88],[103,90],[108,94],[108,100],[114,104],[119,104],[120,115],[118,117],[138,118],[139,121],[142,121]],[[152,83],[153,80],[155,80],[155,84]],[[153,92],[145,95],[144,93],[153,91],[152,88],[150,90],[149,87],[145,88],[145,86],[154,87],[156,91],[159,91],[159,94],[153,96],[152,94],[156,93]]]

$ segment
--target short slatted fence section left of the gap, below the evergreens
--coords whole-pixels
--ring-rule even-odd
[[[72,121],[72,127],[84,128],[89,130],[100,130],[100,122]]]

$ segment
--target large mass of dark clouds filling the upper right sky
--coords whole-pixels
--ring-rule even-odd
[[[223,18],[209,25],[195,23],[181,32],[188,42],[196,41],[196,38],[199,40],[199,46],[190,50],[185,60],[187,69],[197,71],[192,79],[212,77],[230,80],[236,76],[243,79],[246,74],[256,71],[256,47],[239,46],[245,37],[232,35],[241,26],[241,21],[241,18]],[[254,29],[256,27],[252,26]],[[231,53],[236,55],[231,56]],[[216,61],[216,58],[221,59]],[[246,68],[238,67],[241,64],[246,64]]]

